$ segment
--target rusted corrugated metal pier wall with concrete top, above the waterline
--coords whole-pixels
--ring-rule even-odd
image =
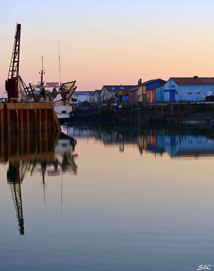
[[[61,131],[52,102],[0,103],[0,133]]]

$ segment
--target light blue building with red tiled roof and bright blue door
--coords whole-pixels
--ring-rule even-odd
[[[164,85],[164,101],[205,101],[206,96],[214,95],[212,77],[171,77]]]

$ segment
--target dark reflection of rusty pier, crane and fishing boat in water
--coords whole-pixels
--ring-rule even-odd
[[[57,176],[70,172],[77,175],[74,153],[76,141],[63,133],[56,134],[21,134],[3,138],[0,146],[0,163],[8,163],[7,182],[14,201],[18,227],[24,234],[21,184],[28,173],[32,176],[38,171],[42,176],[41,187],[44,200],[47,185],[45,176]]]

